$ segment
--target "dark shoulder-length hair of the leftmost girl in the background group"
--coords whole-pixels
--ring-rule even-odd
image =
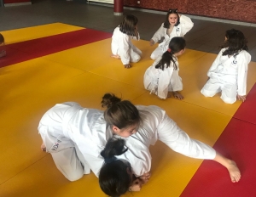
[[[124,16],[123,21],[119,25],[119,30],[129,36],[136,37],[135,28],[137,25],[137,17],[131,14]]]

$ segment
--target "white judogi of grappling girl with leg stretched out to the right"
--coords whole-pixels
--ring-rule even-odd
[[[189,138],[188,134],[177,127],[177,124],[166,115],[165,110],[153,105],[137,105],[137,109],[143,122],[137,133],[124,138],[125,145],[129,149],[125,154],[118,156],[131,163],[132,170],[137,177],[150,171],[151,155],[147,149],[157,140],[162,141],[177,153],[189,157],[207,160],[215,158],[216,151],[212,147]]]

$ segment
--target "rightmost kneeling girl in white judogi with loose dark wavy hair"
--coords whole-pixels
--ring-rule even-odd
[[[217,58],[207,72],[208,81],[201,89],[206,97],[221,92],[221,99],[227,104],[234,104],[236,97],[246,100],[247,70],[251,55],[247,53],[247,40],[241,31],[226,31],[225,42]]]

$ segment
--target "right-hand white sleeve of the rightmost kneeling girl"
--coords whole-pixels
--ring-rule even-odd
[[[251,61],[251,55],[246,51],[243,51],[243,53],[241,53],[241,58],[238,61],[237,94],[244,96],[247,94],[247,70],[248,64]]]

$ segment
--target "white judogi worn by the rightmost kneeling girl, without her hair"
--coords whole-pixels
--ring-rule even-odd
[[[221,99],[227,104],[236,102],[236,95],[247,93],[247,70],[251,55],[242,50],[229,58],[222,55],[227,48],[222,48],[217,58],[207,72],[209,80],[201,89],[206,97],[212,97],[221,92]]]

